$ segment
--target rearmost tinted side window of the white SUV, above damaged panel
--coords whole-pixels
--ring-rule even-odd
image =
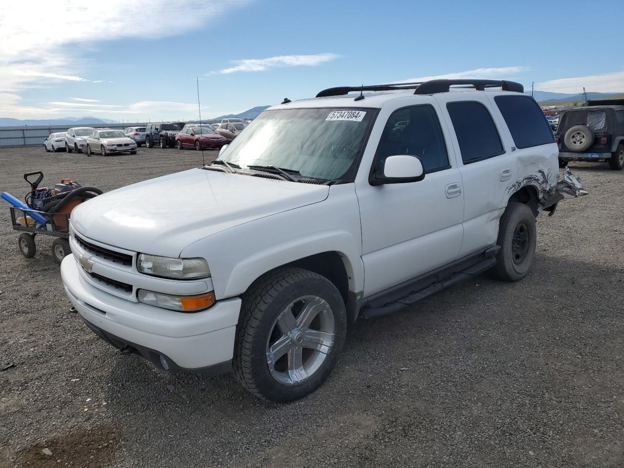
[[[524,96],[496,96],[494,100],[517,148],[555,142],[544,113],[533,99]]]

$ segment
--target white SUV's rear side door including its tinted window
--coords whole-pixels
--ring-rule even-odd
[[[507,193],[517,179],[515,148],[484,92],[449,92],[436,99],[451,129],[464,186],[462,257],[496,243]]]

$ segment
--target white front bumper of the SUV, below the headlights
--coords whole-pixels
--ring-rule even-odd
[[[80,317],[116,348],[139,354],[161,370],[167,370],[161,356],[170,371],[207,374],[228,370],[240,298],[218,301],[212,308],[196,313],[125,300],[90,285],[80,275],[74,255],[63,259],[61,278]]]

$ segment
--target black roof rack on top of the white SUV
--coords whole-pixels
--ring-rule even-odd
[[[378,84],[369,86],[339,86],[324,89],[316,97],[342,96],[352,91],[393,91],[401,89],[414,89],[414,94],[436,94],[449,92],[451,86],[468,85],[476,90],[483,91],[485,88],[500,87],[503,91],[524,92],[524,86],[515,81],[506,80],[429,80],[414,83]]]

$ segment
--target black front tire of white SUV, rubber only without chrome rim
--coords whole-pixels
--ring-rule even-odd
[[[311,376],[295,385],[285,385],[271,375],[267,346],[276,319],[297,298],[306,295],[325,300],[334,317],[334,344],[323,364]],[[261,276],[242,296],[234,345],[233,371],[236,379],[256,396],[288,402],[316,390],[336,364],[346,336],[344,301],[336,286],[324,276],[301,268],[278,268]]]

